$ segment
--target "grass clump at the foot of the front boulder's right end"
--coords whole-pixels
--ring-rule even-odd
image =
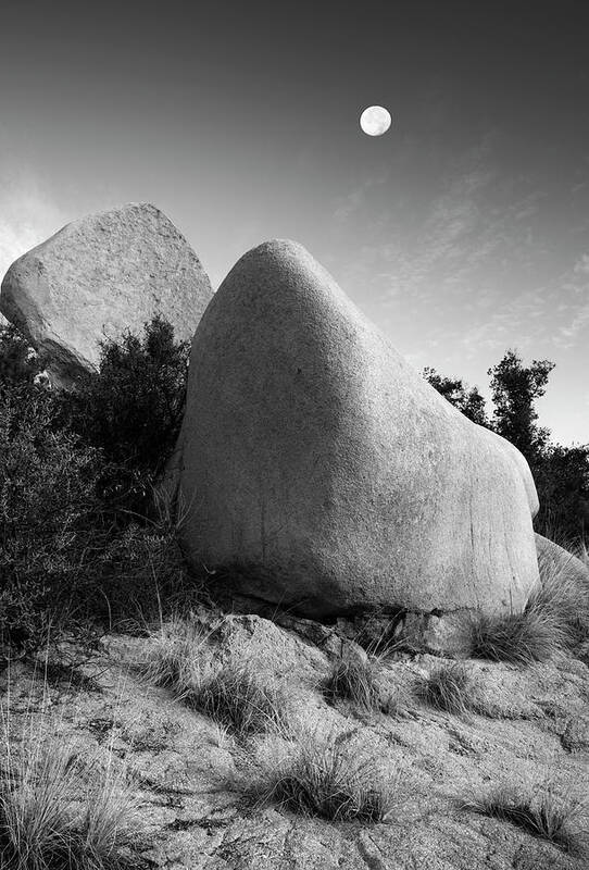
[[[474,658],[528,666],[548,661],[562,649],[566,635],[551,613],[530,607],[523,613],[479,614],[471,626]]]

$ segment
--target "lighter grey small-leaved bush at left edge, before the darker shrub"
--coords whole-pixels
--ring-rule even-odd
[[[63,619],[96,523],[100,456],[54,422],[43,390],[0,389],[0,643],[23,649]]]

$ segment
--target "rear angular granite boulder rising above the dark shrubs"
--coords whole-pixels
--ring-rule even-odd
[[[74,221],[9,269],[0,310],[47,360],[55,383],[92,370],[99,343],[142,334],[156,313],[191,338],[211,283],[159,209],[131,203]]]

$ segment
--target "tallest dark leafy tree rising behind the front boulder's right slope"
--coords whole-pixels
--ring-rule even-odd
[[[532,468],[540,462],[550,440],[549,430],[536,423],[534,402],[544,395],[553,369],[554,363],[549,360],[532,360],[526,368],[514,350],[507,350],[501,362],[487,372],[494,403],[492,427],[517,447]]]

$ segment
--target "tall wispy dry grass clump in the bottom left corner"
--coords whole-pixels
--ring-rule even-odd
[[[4,870],[122,870],[134,811],[124,779],[92,770],[85,792],[77,755],[57,739],[4,735],[0,866]]]

